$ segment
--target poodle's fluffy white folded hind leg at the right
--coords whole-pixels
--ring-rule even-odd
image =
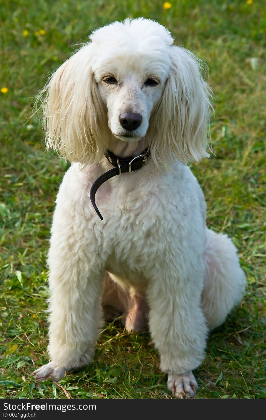
[[[206,229],[205,282],[202,309],[208,328],[221,325],[226,315],[240,303],[245,291],[245,274],[240,267],[237,249],[231,239]]]

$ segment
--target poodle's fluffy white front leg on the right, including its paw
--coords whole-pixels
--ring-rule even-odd
[[[192,370],[204,357],[206,321],[200,309],[202,268],[181,276],[169,267],[154,276],[147,289],[150,332],[161,357],[161,370],[168,373],[173,396],[194,396],[198,387]]]

